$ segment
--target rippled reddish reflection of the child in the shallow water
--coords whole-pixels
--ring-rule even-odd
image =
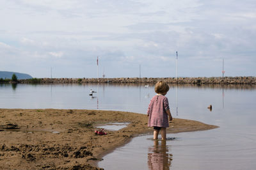
[[[168,153],[166,140],[159,144],[158,140],[154,141],[154,146],[148,148],[148,169],[170,169],[172,154]]]

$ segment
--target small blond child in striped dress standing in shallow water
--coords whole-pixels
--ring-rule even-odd
[[[166,139],[166,127],[169,127],[169,120],[172,121],[168,98],[164,97],[169,91],[166,82],[159,81],[155,86],[156,95],[152,97],[148,105],[148,127],[154,127],[154,139],[158,139],[161,130],[162,140]]]

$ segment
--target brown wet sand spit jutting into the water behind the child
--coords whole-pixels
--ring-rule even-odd
[[[100,169],[103,155],[139,134],[152,134],[145,114],[70,109],[0,109],[0,169]],[[95,135],[95,126],[129,122]],[[217,128],[175,118],[168,133]]]

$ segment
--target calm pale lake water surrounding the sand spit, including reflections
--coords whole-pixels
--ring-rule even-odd
[[[90,96],[90,89],[97,91]],[[0,85],[0,108],[100,109],[145,114],[154,87],[145,84]],[[105,169],[255,169],[255,86],[172,86],[173,118],[218,125],[199,132],[152,135],[132,141],[99,162]],[[212,111],[207,109],[212,105]]]

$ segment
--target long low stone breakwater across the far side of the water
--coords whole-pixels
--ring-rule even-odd
[[[165,78],[34,78],[21,79],[17,83],[29,84],[36,82],[37,84],[67,84],[67,83],[145,83],[154,84],[157,81],[163,80],[170,84],[256,84],[256,77],[165,77]]]

